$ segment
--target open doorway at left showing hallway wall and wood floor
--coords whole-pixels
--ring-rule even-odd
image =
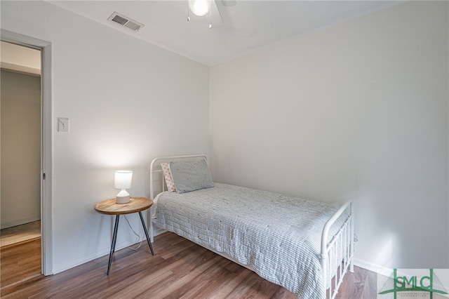
[[[41,274],[41,50],[1,46],[1,287]]]

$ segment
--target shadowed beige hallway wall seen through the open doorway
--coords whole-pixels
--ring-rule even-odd
[[[0,86],[3,229],[41,219],[41,78],[1,69]]]

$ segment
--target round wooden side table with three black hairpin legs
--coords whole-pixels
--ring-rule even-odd
[[[95,206],[93,207],[98,213],[106,215],[116,215],[114,234],[112,234],[111,251],[109,253],[109,264],[107,265],[107,275],[109,275],[109,271],[111,270],[112,255],[115,251],[120,215],[139,213],[140,221],[142,221],[143,230],[145,231],[145,236],[147,237],[149,250],[152,251],[152,255],[154,255],[152,244],[149,241],[147,227],[145,226],[145,221],[143,220],[142,216],[142,211],[152,206],[152,204],[153,201],[151,199],[147,199],[145,197],[131,197],[130,202],[128,202],[127,204],[117,204],[116,199],[107,199],[105,201],[99,202],[98,204],[95,204]]]

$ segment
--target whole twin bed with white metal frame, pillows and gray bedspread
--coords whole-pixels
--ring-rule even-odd
[[[335,298],[353,271],[351,201],[333,206],[212,182],[204,155],[154,159],[149,189],[151,241],[154,225],[175,232],[298,298]]]

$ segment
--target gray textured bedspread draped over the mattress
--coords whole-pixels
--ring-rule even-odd
[[[325,298],[321,232],[337,207],[220,183],[163,192],[155,206],[158,227],[251,265],[298,298]]]

